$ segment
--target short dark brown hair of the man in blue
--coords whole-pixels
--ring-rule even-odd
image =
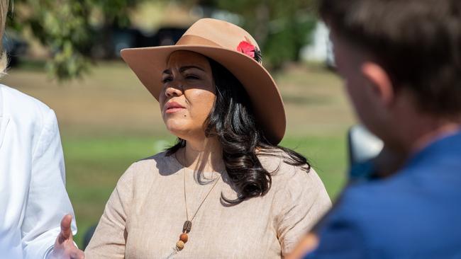
[[[460,0],[321,0],[319,11],[377,59],[396,91],[410,88],[421,110],[460,114]]]

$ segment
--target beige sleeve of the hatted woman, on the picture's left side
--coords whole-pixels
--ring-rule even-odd
[[[127,221],[133,200],[133,166],[118,180],[87,248],[85,258],[125,258]]]

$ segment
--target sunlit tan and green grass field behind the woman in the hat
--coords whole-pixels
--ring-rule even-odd
[[[309,159],[334,199],[347,169],[345,132],[354,123],[340,81],[318,66],[287,67],[276,81],[287,111],[282,145]],[[57,114],[79,246],[126,168],[174,141],[155,99],[120,62],[99,64],[82,81],[64,84],[41,69],[11,69],[2,84],[43,100]]]

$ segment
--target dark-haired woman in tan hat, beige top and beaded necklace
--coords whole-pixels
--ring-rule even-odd
[[[87,258],[281,258],[330,206],[255,40],[201,19],[174,46],[122,51],[178,142],[118,181]]]

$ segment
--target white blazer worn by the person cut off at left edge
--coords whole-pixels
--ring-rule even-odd
[[[68,213],[55,113],[0,85],[0,258],[44,258]]]

